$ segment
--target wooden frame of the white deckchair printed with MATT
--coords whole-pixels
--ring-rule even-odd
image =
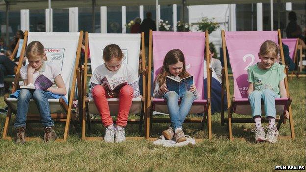
[[[23,43],[23,47],[20,53],[19,63],[18,63],[17,71],[15,74],[14,85],[12,88],[12,93],[14,93],[19,88],[18,81],[20,77],[20,69],[22,67],[22,61],[24,58],[25,50],[26,50],[27,38],[28,38],[28,31],[25,32],[24,43]],[[78,65],[79,65],[79,59],[80,59],[80,53],[81,53],[82,39],[83,39],[83,31],[80,31],[80,36],[78,39],[77,55],[76,55],[75,64],[74,64],[74,74],[73,74],[73,79],[71,81],[72,87],[71,87],[71,92],[69,95],[68,104],[66,104],[63,98],[59,99],[59,103],[63,107],[63,109],[65,109],[65,112],[60,113],[60,114],[51,114],[51,117],[53,118],[54,122],[66,123],[64,137],[58,138],[56,139],[56,141],[63,141],[63,142],[67,141],[70,120],[72,119],[72,116],[75,116],[75,114],[72,114],[72,105],[73,105],[73,100],[75,96],[76,81],[77,81],[77,78],[80,77],[80,72],[77,72],[77,71],[80,71],[78,68]],[[81,92],[81,84],[78,85],[78,92]],[[9,130],[9,122],[10,122],[11,115],[12,113],[16,114],[16,112],[12,111],[12,108],[10,107],[10,104],[7,101],[7,98],[8,98],[8,95],[4,97],[4,101],[8,104],[9,108],[8,108],[5,125],[4,125],[3,139],[12,140],[13,137],[7,136],[7,133]],[[26,123],[40,123],[40,117],[38,115],[28,113]],[[26,137],[26,141],[30,141],[30,140],[40,140],[40,139],[39,137]]]

